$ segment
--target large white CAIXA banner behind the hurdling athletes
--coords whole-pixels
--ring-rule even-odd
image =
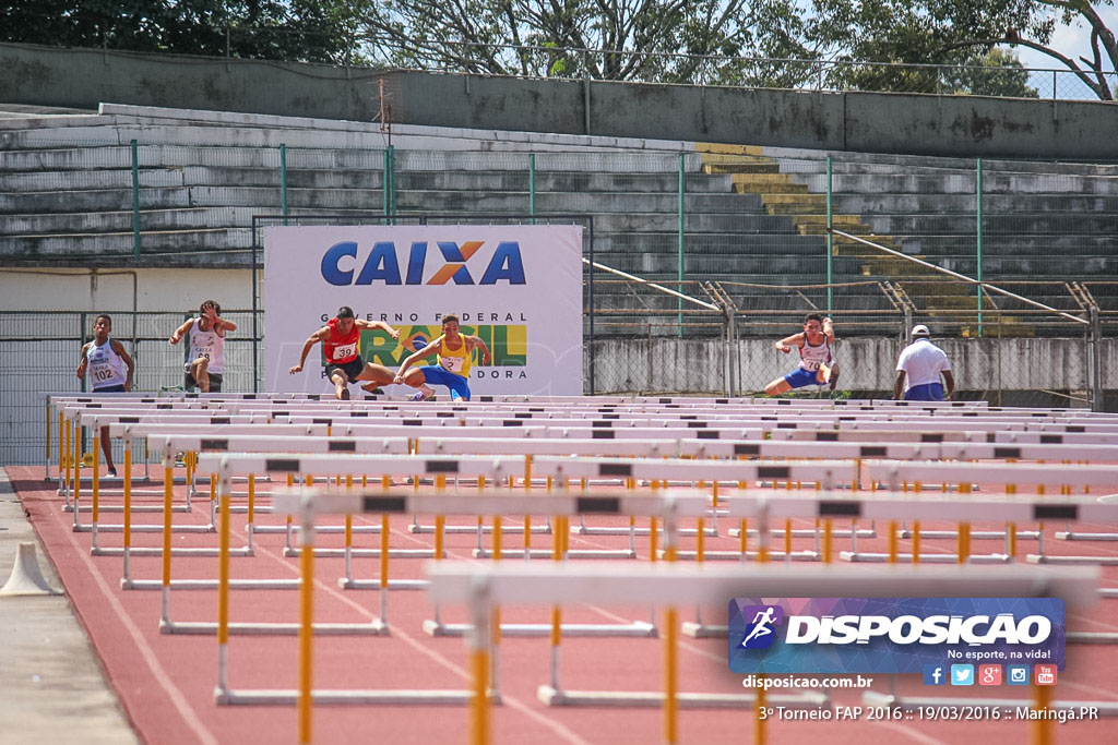
[[[306,337],[348,305],[400,332],[361,334],[361,357],[390,370],[442,333],[453,313],[474,353],[470,388],[582,393],[582,228],[579,226],[269,227],[264,231],[264,360],[268,391],[328,393],[322,345],[291,375]],[[418,364],[435,364],[434,359]],[[390,386],[389,393],[409,393]],[[353,391],[357,394],[357,391]],[[446,391],[436,388],[436,394]]]

